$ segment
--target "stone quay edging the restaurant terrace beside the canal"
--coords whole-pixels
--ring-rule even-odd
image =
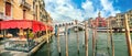
[[[8,41],[8,40],[3,40],[0,42],[0,56],[31,56],[32,54],[34,54],[36,51],[40,49],[40,47],[46,43],[47,38],[52,38],[52,35],[53,33],[51,34],[46,34],[46,35],[43,35],[38,38],[36,38],[35,41],[36,42],[40,42],[38,45],[36,45],[33,49],[31,49],[30,52],[18,52],[18,51],[7,51],[4,49],[4,43]]]

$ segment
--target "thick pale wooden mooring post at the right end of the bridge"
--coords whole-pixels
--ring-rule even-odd
[[[86,56],[88,56],[88,23],[85,22],[85,49]]]

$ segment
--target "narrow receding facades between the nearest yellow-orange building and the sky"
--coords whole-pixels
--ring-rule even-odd
[[[34,20],[52,24],[53,19],[50,16],[50,13],[45,10],[44,0],[33,0],[33,9]]]

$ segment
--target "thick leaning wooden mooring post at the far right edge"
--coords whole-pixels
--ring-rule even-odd
[[[130,27],[128,23],[128,15],[124,15],[124,26],[125,26],[125,38],[127,38],[127,45],[128,45],[128,53],[129,56],[132,56],[132,47],[131,47],[131,36],[130,36]]]

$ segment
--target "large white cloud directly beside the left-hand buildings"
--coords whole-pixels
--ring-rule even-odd
[[[81,10],[75,8],[70,0],[45,0],[45,4],[55,21],[84,20]]]

